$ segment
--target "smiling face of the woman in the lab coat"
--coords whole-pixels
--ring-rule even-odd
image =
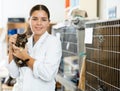
[[[42,35],[49,26],[48,15],[44,10],[36,10],[32,13],[29,24],[34,35]]]

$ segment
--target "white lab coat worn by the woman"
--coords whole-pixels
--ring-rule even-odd
[[[33,46],[33,36],[27,43],[28,53],[35,59],[33,70],[9,64],[10,75],[17,78],[13,91],[55,91],[55,76],[62,55],[61,42],[45,32]]]

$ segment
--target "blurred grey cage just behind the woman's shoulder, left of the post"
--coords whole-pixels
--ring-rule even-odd
[[[60,72],[64,71],[64,57],[69,56],[77,56],[77,35],[76,35],[76,29],[74,27],[60,27],[60,28],[53,28],[52,30],[53,35],[58,35],[60,37],[61,43],[62,43],[62,60],[60,65]]]

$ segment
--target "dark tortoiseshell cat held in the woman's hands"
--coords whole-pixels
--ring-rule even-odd
[[[20,48],[25,48],[26,43],[28,42],[27,35],[26,33],[23,34],[17,34],[17,39],[15,46],[20,47]],[[17,64],[18,67],[24,67],[27,66],[26,62],[23,61],[22,59],[14,56],[14,61]]]

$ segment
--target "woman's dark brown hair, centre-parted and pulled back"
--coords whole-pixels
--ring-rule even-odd
[[[36,10],[44,10],[47,15],[48,15],[48,19],[50,18],[50,12],[48,10],[48,8],[45,6],[45,5],[42,5],[42,4],[38,4],[38,5],[35,5],[31,10],[30,10],[30,16],[32,15],[32,13]]]

